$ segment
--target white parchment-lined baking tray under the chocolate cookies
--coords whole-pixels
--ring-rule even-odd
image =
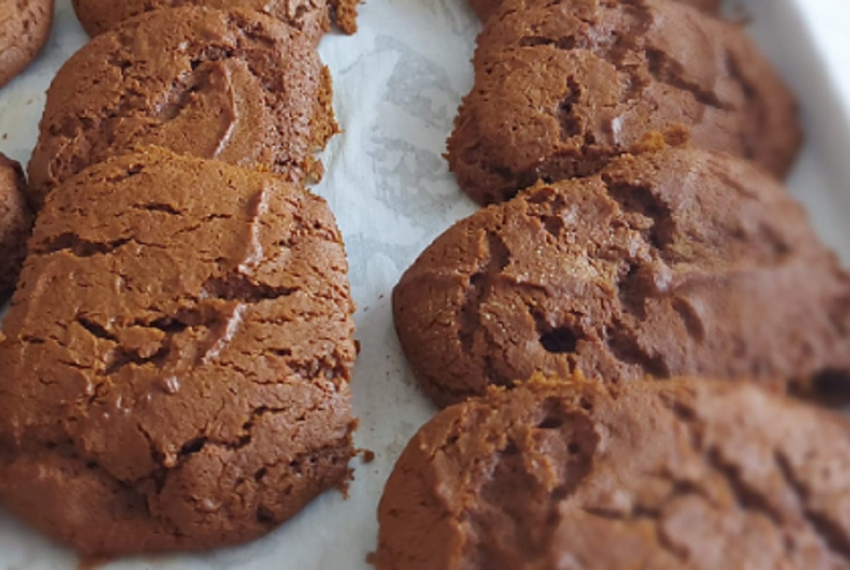
[[[850,57],[850,38],[843,32],[850,29],[850,4],[739,4],[751,17],[752,35],[801,100],[807,142],[791,175],[791,190],[808,206],[819,234],[850,264],[850,81],[829,71]],[[441,155],[457,105],[472,86],[469,59],[478,31],[464,0],[368,0],[356,36],[331,35],[320,46],[334,78],[343,133],[323,155],[327,174],[315,192],[329,201],[348,248],[362,343],[353,381],[354,411],[360,417],[355,439],[376,453],[368,465],[354,460],[348,499],[327,493],[249,545],[114,562],[106,568],[369,567],[365,557],[375,547],[383,483],[407,441],[433,414],[401,356],[390,293],[434,237],[475,210]],[[70,0],[59,0],[42,57],[0,91],[0,150],[22,162],[29,159],[43,93],[59,66],[86,41]],[[0,570],[71,570],[77,565],[70,550],[0,512]]]

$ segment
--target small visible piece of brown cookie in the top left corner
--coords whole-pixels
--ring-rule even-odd
[[[0,87],[30,65],[50,36],[54,0],[0,0]]]

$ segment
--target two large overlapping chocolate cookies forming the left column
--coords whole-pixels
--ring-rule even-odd
[[[337,131],[315,41],[248,9],[135,15],[54,78],[29,185],[0,165],[37,212],[0,503],[84,557],[241,543],[351,477],[348,262],[303,188]]]

